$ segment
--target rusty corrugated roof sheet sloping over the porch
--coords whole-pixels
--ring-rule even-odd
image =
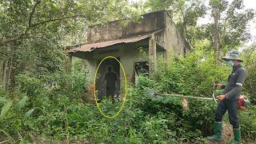
[[[151,34],[146,34],[146,35],[140,35],[140,36],[135,36],[132,38],[124,38],[124,39],[117,39],[117,40],[112,40],[112,41],[106,41],[106,42],[97,42],[97,43],[87,43],[82,46],[77,46],[69,50],[69,53],[74,53],[77,51],[92,51],[95,49],[99,48],[104,48],[107,46],[113,46],[116,44],[121,44],[121,43],[130,43],[130,42],[138,42],[141,41],[145,38],[149,38]]]

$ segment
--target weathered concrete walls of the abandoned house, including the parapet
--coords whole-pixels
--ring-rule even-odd
[[[166,11],[146,14],[140,25],[131,23],[126,28],[120,26],[117,21],[110,22],[105,26],[91,26],[88,39],[90,42],[106,41],[107,39],[123,38],[133,34],[137,35],[151,30],[159,30],[162,27],[165,27],[165,29],[154,34],[155,42],[158,44],[157,56],[164,55],[166,61],[170,63],[173,58],[183,55],[185,45],[181,34]],[[146,54],[142,55],[138,46],[144,46],[145,49],[142,51]],[[134,78],[134,62],[149,61],[148,46],[149,38],[146,38],[142,42],[110,46],[91,51],[90,53],[80,52],[78,55],[79,58],[87,60],[91,83],[93,83],[98,60],[109,55],[120,58],[126,70],[126,78],[128,82],[132,82]],[[120,74],[120,77],[123,78],[122,73]]]

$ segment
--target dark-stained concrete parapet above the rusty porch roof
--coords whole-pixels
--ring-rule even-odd
[[[104,42],[108,40],[129,38],[139,34],[161,30],[166,26],[165,11],[144,14],[141,21],[130,22],[128,26],[122,26],[119,21],[109,22],[106,25],[89,27],[88,42]]]

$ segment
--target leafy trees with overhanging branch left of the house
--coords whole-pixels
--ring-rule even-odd
[[[59,70],[64,47],[86,42],[86,26],[135,14],[125,0],[1,0],[2,79],[13,89],[18,73]]]

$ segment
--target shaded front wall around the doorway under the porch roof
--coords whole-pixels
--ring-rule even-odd
[[[146,38],[145,41],[148,41],[148,39]],[[121,46],[111,46],[108,49],[94,50],[90,54],[90,57],[86,57],[86,61],[89,64],[90,82],[93,82],[98,60],[109,55],[120,58],[120,62],[126,72],[127,81],[132,82],[134,77],[134,62],[146,62],[149,60],[148,48],[146,46],[144,46],[144,48],[139,47],[140,46],[131,43]],[[120,68],[120,70],[122,69]],[[124,78],[122,71],[120,72],[120,77]]]

